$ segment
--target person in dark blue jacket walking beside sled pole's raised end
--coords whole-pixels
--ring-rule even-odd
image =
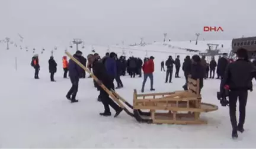
[[[76,51],[76,53],[73,55],[73,57],[75,59],[77,59],[78,61],[81,61],[81,56],[82,56],[82,52],[81,51]],[[71,101],[71,103],[73,102],[78,102],[78,100],[76,100],[76,93],[78,92],[78,82],[79,82],[79,78],[82,76],[82,68],[75,63],[75,61],[73,61],[72,59],[69,60],[69,79],[71,80],[72,83],[72,87],[71,89],[69,89],[69,92],[66,95],[66,98]]]

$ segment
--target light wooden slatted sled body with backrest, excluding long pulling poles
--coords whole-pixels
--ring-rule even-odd
[[[151,116],[140,115],[138,110],[149,110]],[[188,78],[188,90],[169,93],[133,93],[133,114],[139,122],[155,124],[207,124],[200,119],[201,112],[216,111],[218,107],[201,103],[199,79]],[[168,111],[168,112],[156,112]],[[146,121],[148,119],[148,121]]]

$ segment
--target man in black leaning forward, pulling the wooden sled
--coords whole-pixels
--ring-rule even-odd
[[[107,89],[113,89],[114,90],[114,83],[113,79],[108,76],[107,70],[103,64],[103,61],[98,61],[97,56],[92,56],[91,54],[87,57],[90,64],[92,64],[92,69],[94,71],[94,75],[98,78],[98,85],[101,86],[102,84],[105,85]],[[116,114],[114,117],[118,116],[123,109],[117,105],[108,95],[107,92],[103,88],[99,88],[100,90],[100,98],[101,102],[104,105],[105,111],[103,113],[100,113],[102,116],[110,116],[110,107],[111,106],[115,111]]]

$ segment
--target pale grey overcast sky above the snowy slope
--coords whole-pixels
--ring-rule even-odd
[[[87,44],[171,40],[231,40],[256,35],[255,0],[0,0],[0,39],[33,45]],[[222,27],[203,33],[204,26]]]

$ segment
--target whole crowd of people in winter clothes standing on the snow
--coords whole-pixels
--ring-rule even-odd
[[[172,59],[172,56],[169,56],[168,59],[164,62],[161,62],[161,71],[165,71],[165,83],[172,82],[172,73],[175,66],[175,77],[180,77],[179,71],[180,67],[184,72],[185,85],[183,86],[184,90],[188,89],[188,77],[192,79],[200,80],[200,92],[203,88],[204,79],[215,78],[215,72],[217,73],[216,79],[221,79],[222,83],[220,84],[220,92],[223,92],[225,85],[230,86],[230,95],[229,95],[229,112],[232,123],[232,137],[237,138],[237,131],[244,131],[244,121],[245,121],[245,106],[247,102],[247,90],[252,90],[252,77],[255,77],[255,66],[256,60],[251,63],[247,59],[247,51],[244,48],[238,50],[237,53],[238,60],[233,61],[228,59],[228,54],[224,53],[223,56],[219,57],[219,60],[215,60],[215,57],[212,57],[210,63],[207,63],[206,57],[199,55],[194,55],[192,57],[186,56],[183,64],[180,63],[180,56],[177,56]],[[81,51],[76,51],[73,55],[75,59],[80,61],[84,66],[87,66],[89,70],[92,70],[93,74],[98,78],[98,82],[94,81],[94,86],[100,91],[98,95],[98,101],[101,101],[104,105],[104,112],[100,113],[103,116],[110,116],[110,107],[111,106],[116,114],[114,117],[118,116],[123,110],[119,105],[117,105],[101,88],[101,85],[104,84],[108,89],[120,89],[123,88],[123,82],[121,81],[120,76],[129,74],[130,77],[135,77],[138,75],[142,77],[143,71],[143,82],[141,92],[144,92],[145,83],[149,77],[150,90],[155,90],[153,88],[153,72],[155,71],[154,57],[145,57],[142,61],[139,57],[129,57],[126,60],[126,57],[120,56],[117,57],[117,54],[114,52],[106,53],[104,57],[100,57],[99,54],[89,54],[87,58],[82,56]],[[85,70],[83,70],[78,64],[75,63],[72,59],[67,60],[66,56],[63,56],[63,77],[67,78],[67,73],[69,73],[69,79],[71,80],[72,86],[69,89],[69,92],[66,94],[66,98],[73,102],[78,102],[76,99],[76,93],[78,92],[78,83],[80,78],[85,78]],[[231,64],[229,64],[231,63]],[[254,64],[254,65],[253,65]],[[35,69],[34,78],[39,79],[39,58],[35,54],[31,61],[31,66]],[[54,74],[56,73],[57,63],[51,56],[49,59],[49,72],[50,80],[55,82]],[[215,71],[216,70],[216,71]],[[209,75],[210,73],[210,75]],[[117,82],[117,87],[114,88],[114,80]],[[236,101],[239,98],[239,124],[236,124]]]

